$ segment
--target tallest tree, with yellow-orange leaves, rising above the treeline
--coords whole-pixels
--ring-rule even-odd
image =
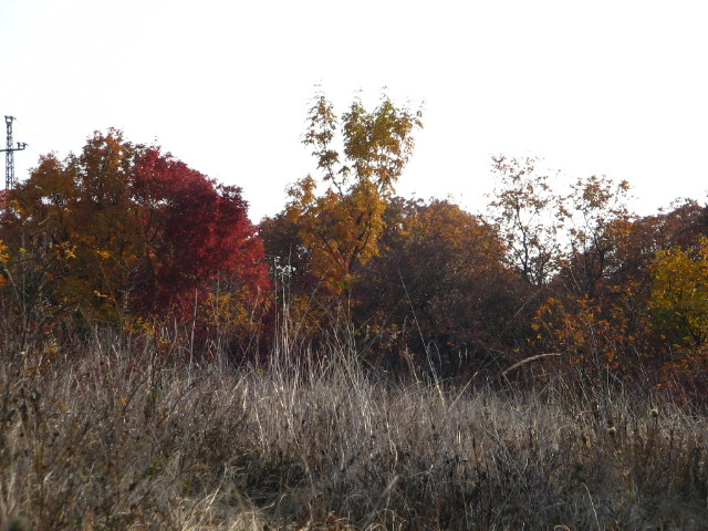
[[[421,126],[420,112],[396,107],[386,95],[372,112],[355,100],[341,122],[342,153],[333,146],[340,119],[324,95],[315,96],[303,143],[312,147],[327,189],[317,196],[308,176],[290,188],[285,208],[310,252],[312,272],[332,293],[348,293],[357,266],[378,252],[386,200]]]

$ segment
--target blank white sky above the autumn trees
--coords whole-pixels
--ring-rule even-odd
[[[706,202],[704,3],[0,0],[0,116],[29,144],[20,180],[117,127],[240,186],[259,221],[315,169],[317,87],[340,113],[385,90],[424,113],[399,195],[481,211],[491,156],[533,156],[559,188],[628,180],[648,215]]]

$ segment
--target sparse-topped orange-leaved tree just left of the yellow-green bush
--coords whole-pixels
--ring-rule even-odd
[[[633,260],[629,242],[637,237],[627,191],[626,181],[604,176],[571,186],[561,209],[568,231],[560,271],[534,323],[537,345],[592,373],[635,367],[638,327],[645,324],[639,280],[623,274]]]

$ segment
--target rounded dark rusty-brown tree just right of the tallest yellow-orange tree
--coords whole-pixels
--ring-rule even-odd
[[[449,375],[500,363],[518,339],[510,324],[523,285],[494,228],[445,200],[396,198],[385,219],[357,289],[356,321],[372,345],[394,362],[406,348],[419,362],[431,354]]]

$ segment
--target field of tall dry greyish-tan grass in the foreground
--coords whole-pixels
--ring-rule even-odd
[[[708,521],[708,419],[643,389],[392,383],[337,347],[310,364],[189,365],[174,345],[105,333],[58,353],[11,351],[3,531]]]

